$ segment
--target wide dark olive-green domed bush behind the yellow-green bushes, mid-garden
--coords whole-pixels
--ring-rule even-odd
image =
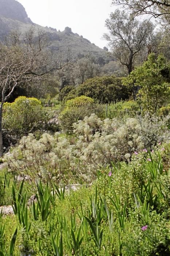
[[[96,99],[100,103],[109,103],[128,99],[131,94],[130,90],[122,85],[122,79],[116,78],[115,76],[103,76],[88,79],[83,84],[80,84],[75,89],[74,88],[75,87],[70,86],[67,86],[66,89],[63,88],[60,92],[61,98],[69,98],[71,95],[85,95]]]

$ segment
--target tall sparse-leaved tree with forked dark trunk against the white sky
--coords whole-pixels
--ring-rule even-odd
[[[104,34],[104,38],[109,41],[112,57],[130,74],[142,51],[146,52],[148,38],[154,30],[153,24],[148,20],[140,22],[131,19],[125,11],[117,9],[110,14],[105,26],[109,34]]]

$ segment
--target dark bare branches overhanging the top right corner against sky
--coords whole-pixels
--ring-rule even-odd
[[[131,10],[133,16],[148,14],[158,18],[170,16],[170,0],[112,0],[114,5],[122,5]]]

